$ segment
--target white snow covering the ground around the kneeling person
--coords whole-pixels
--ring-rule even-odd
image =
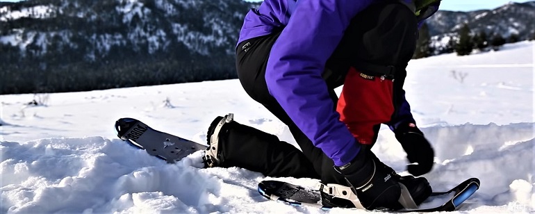
[[[413,114],[436,150],[434,190],[470,177],[479,191],[456,213],[534,213],[535,42],[500,51],[413,60],[405,83]],[[337,90],[340,92],[340,88]],[[35,99],[40,106],[27,105]],[[256,191],[270,178],[232,167],[202,169],[199,151],[167,164],[117,139],[115,120],[204,143],[218,115],[295,144],[238,80],[90,92],[0,95],[0,213],[367,213],[287,206]],[[383,127],[375,153],[406,174],[405,156]]]

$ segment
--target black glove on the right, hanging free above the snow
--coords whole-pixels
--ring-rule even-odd
[[[429,141],[415,124],[402,124],[395,129],[395,138],[407,153],[407,159],[412,163],[407,166],[409,173],[420,176],[431,171],[435,153]],[[415,165],[414,163],[418,163]]]

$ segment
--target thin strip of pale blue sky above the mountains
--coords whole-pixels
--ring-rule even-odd
[[[1,1],[16,2],[19,0],[0,0],[0,2]],[[259,1],[259,0],[251,0],[251,1]],[[527,1],[533,1],[533,0],[515,0],[512,2],[523,3]],[[441,10],[472,11],[472,10],[483,10],[483,9],[494,9],[509,2],[511,1],[510,0],[443,0],[441,3]]]

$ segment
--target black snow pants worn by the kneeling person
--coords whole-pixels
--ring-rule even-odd
[[[395,74],[395,88],[401,90],[406,74],[404,67],[413,55],[417,33],[415,15],[400,3],[370,6],[354,17],[340,44],[327,60],[322,75],[333,100],[333,109],[338,101],[334,88],[343,84],[349,67],[356,62],[402,67]],[[247,94],[288,126],[302,151],[280,142],[273,135],[256,129],[253,133],[250,130],[253,128],[235,123],[229,131],[227,143],[233,148],[239,147],[240,152],[226,159],[231,158],[232,165],[262,172],[266,176],[310,177],[321,179],[324,183],[346,184],[343,177],[334,171],[334,162],[313,146],[268,91],[265,68],[272,45],[279,35],[280,32],[277,32],[240,42],[236,51],[236,68]],[[379,126],[376,130],[375,140]]]

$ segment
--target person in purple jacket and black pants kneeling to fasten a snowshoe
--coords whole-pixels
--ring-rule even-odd
[[[434,151],[415,126],[402,89],[418,26],[439,0],[265,0],[245,16],[236,47],[243,88],[288,125],[301,148],[217,117],[206,167],[242,167],[265,176],[321,179],[352,188],[365,208],[403,208],[431,194]],[[340,98],[334,88],[343,85]],[[406,151],[400,176],[370,150],[388,124]],[[417,164],[415,164],[417,163]],[[325,206],[355,207],[322,192]]]

